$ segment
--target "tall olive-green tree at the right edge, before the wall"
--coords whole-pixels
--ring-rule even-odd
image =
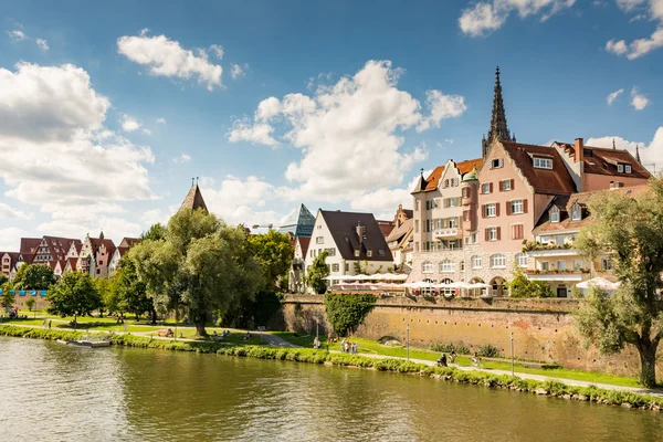
[[[592,291],[576,314],[579,332],[604,355],[627,345],[640,354],[640,382],[656,385],[656,351],[663,338],[663,304],[657,290],[663,271],[663,181],[646,191],[604,191],[589,200],[592,221],[573,246],[594,260],[611,251],[619,288],[607,296]]]

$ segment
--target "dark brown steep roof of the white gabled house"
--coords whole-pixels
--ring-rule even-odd
[[[372,213],[320,210],[320,214],[344,260],[392,261],[385,234]],[[365,228],[364,238],[357,234],[358,224]],[[355,250],[359,250],[359,256],[355,256]],[[366,253],[367,250],[371,251],[370,257]],[[381,256],[379,251],[382,251]]]

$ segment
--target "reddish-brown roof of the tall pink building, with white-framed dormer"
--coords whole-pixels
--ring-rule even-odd
[[[511,141],[502,141],[502,145],[536,193],[568,194],[576,191],[573,178],[555,148]],[[551,170],[534,167],[532,157],[537,154],[552,157]]]

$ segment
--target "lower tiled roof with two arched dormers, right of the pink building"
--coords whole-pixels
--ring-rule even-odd
[[[587,210],[587,203],[589,199],[599,193],[599,192],[622,192],[630,197],[634,197],[639,193],[642,193],[649,189],[649,186],[631,186],[631,187],[621,187],[618,189],[611,190],[594,190],[592,192],[580,192],[572,194],[560,194],[557,196],[550,201],[548,208],[541,213],[536,227],[534,228],[534,233],[554,233],[554,232],[564,232],[568,230],[578,230],[589,223],[591,220],[591,214]],[[571,207],[578,203],[582,209],[582,217],[579,221],[571,220]],[[550,222],[550,209],[556,206],[559,208],[559,222]]]

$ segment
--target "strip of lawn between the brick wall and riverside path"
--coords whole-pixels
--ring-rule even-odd
[[[274,333],[275,335],[281,336],[283,339],[287,340],[291,344],[312,348],[313,339],[315,336],[311,335],[298,335],[290,332],[281,332]],[[320,341],[323,343],[323,348],[326,348],[326,336],[320,335]],[[404,347],[392,347],[386,346],[375,340],[362,339],[362,338],[350,338],[351,341],[359,344],[359,352],[360,354],[375,354],[381,356],[390,356],[397,358],[406,358],[408,350]],[[329,344],[330,350],[340,350],[340,344],[332,343]],[[440,357],[439,351],[432,351],[423,348],[410,347],[410,358],[411,359],[421,359],[421,360],[438,360]],[[469,356],[459,356],[456,358],[456,364],[464,367],[472,366],[472,360]],[[505,370],[511,371],[511,362],[508,361],[492,361],[484,360],[484,368],[494,369],[494,370]],[[528,373],[528,375],[539,375],[551,378],[559,379],[569,379],[569,380],[580,380],[586,382],[596,382],[596,383],[606,383],[611,386],[620,386],[620,387],[642,387],[638,379],[629,378],[625,376],[615,376],[608,373],[599,373],[593,371],[581,371],[581,370],[570,370],[567,368],[532,368],[525,367],[523,365],[516,364],[514,365],[514,371],[519,373]]]

